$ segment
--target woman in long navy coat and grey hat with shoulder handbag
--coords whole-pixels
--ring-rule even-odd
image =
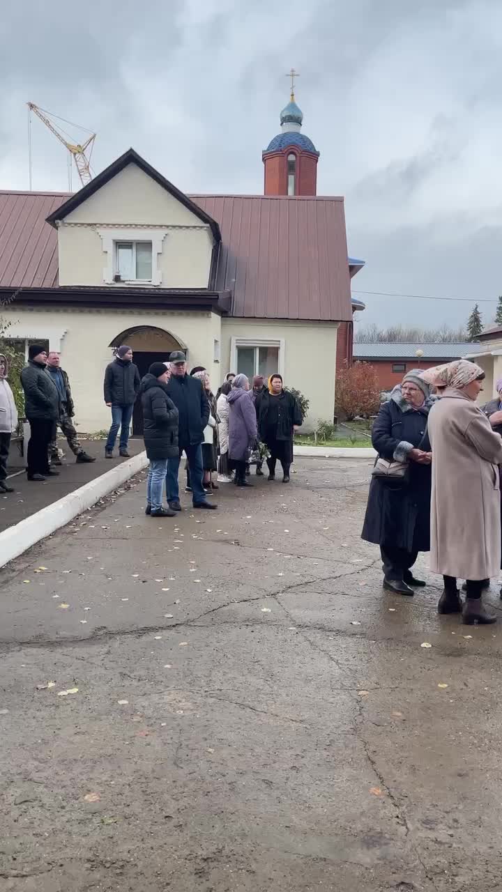
[[[419,551],[431,547],[430,385],[408,372],[372,427],[378,458],[372,473],[362,538],[380,545],[383,588],[413,595],[425,582],[411,572]]]

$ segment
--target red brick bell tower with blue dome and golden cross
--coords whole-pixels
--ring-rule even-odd
[[[314,143],[301,133],[303,114],[295,102],[295,78],[291,69],[289,103],[280,112],[280,133],[264,153],[265,195],[315,195],[317,192],[317,152]]]

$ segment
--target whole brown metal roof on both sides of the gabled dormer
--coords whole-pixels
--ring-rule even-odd
[[[215,289],[230,315],[351,319],[341,198],[190,195],[222,230]],[[57,231],[46,223],[68,193],[0,191],[0,287],[58,285]]]

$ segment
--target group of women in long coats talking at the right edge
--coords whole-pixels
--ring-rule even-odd
[[[426,584],[412,567],[431,551],[443,576],[439,614],[462,613],[466,624],[496,622],[481,596],[501,567],[502,379],[499,399],[480,408],[484,377],[459,359],[410,371],[394,388],[372,428],[379,458],[362,533],[381,547],[384,589],[400,595]]]

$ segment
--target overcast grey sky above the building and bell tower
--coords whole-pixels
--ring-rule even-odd
[[[186,192],[260,194],[294,66],[354,289],[468,299],[355,291],[361,321],[457,324],[502,293],[500,0],[18,0],[0,39],[0,188],[28,188],[30,100],[96,130],[96,171],[132,145]],[[37,119],[32,141],[33,188],[66,189]]]

